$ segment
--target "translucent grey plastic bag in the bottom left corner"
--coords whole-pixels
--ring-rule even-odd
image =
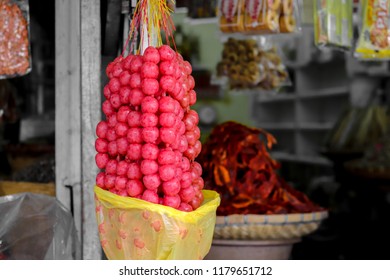
[[[0,259],[80,259],[71,213],[55,197],[0,197]]]

